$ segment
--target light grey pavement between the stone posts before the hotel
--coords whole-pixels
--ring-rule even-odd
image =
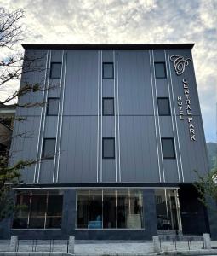
[[[9,240],[0,240],[0,252],[9,251]],[[191,241],[191,247],[187,241],[177,241],[174,247],[173,241],[162,241],[164,252],[176,251],[201,251],[203,241]],[[37,241],[35,246],[32,241],[21,240],[19,252],[49,252],[52,247],[53,252],[67,252],[67,241],[54,241],[54,246],[50,241]],[[217,241],[212,241],[212,247],[217,247]],[[191,248],[191,250],[189,250]],[[153,253],[151,241],[76,241],[75,254],[81,256],[93,255],[150,255]],[[217,254],[217,253],[216,253]],[[215,255],[216,255],[215,254]]]

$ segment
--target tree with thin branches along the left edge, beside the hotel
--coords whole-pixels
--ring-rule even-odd
[[[20,80],[20,76],[25,73],[42,72],[40,61],[43,56],[24,56],[22,52],[16,49],[16,45],[22,39],[22,24],[24,18],[24,9],[9,11],[0,8],[0,90],[6,91],[11,89],[15,80]],[[25,66],[24,66],[25,65]],[[4,99],[0,99],[1,104],[14,103],[14,106],[21,108],[37,108],[46,102],[27,102],[19,104],[17,98],[27,93],[36,93],[43,89],[43,81],[39,84],[22,84],[20,89],[14,90]],[[49,89],[52,89],[49,86]],[[2,101],[1,101],[2,100]],[[1,117],[0,123],[14,119],[14,117]],[[17,121],[24,121],[25,118],[16,116]],[[16,134],[14,136],[25,137],[26,134]],[[20,170],[26,166],[35,164],[38,160],[19,160],[13,166],[9,166],[9,148],[0,154],[0,220],[9,216],[14,211],[14,196],[12,188],[20,183]]]

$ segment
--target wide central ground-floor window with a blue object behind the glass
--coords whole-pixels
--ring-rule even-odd
[[[139,189],[77,190],[77,229],[142,229]]]

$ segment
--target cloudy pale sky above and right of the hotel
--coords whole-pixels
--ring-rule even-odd
[[[217,0],[0,0],[0,7],[25,9],[22,43],[195,43],[205,137],[216,142]]]

